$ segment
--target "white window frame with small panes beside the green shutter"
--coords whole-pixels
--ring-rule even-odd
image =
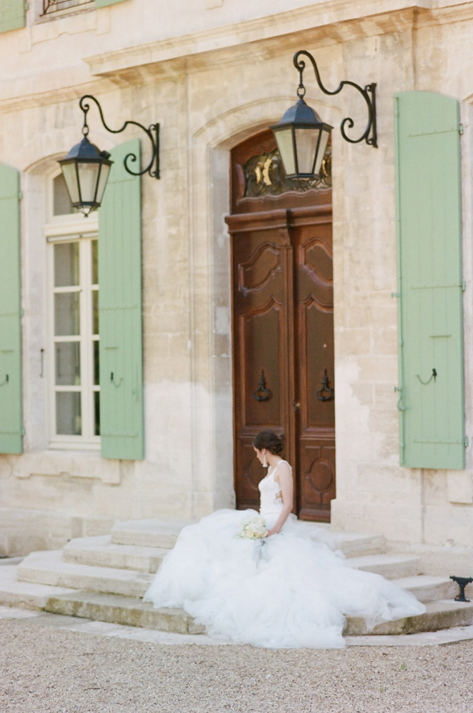
[[[94,434],[93,391],[100,391],[100,386],[93,384],[93,348],[92,348],[92,275],[91,275],[91,240],[98,239],[98,214],[92,213],[85,218],[81,213],[53,215],[53,179],[51,175],[48,191],[49,222],[44,226],[46,238],[46,307],[48,313],[46,350],[48,378],[48,440],[50,448],[66,450],[99,450],[100,436]],[[54,287],[54,245],[61,242],[79,243],[79,289],[80,334],[78,339],[56,337],[54,335],[54,294],[56,292],[75,291],[69,287]],[[87,248],[86,245],[87,244]],[[85,289],[84,289],[85,288]],[[81,386],[56,386],[56,349],[57,342],[78,341],[81,343]],[[49,358],[48,358],[49,356]],[[56,391],[81,391],[81,436],[56,434]]]

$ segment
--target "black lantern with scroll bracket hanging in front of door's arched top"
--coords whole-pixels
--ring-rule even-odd
[[[342,137],[349,143],[360,143],[365,139],[368,145],[377,148],[376,84],[367,84],[365,88],[362,88],[354,82],[342,81],[335,91],[329,91],[320,80],[317,63],[312,55],[305,50],[295,53],[294,66],[299,72],[298,101],[285,112],[277,124],[271,126],[271,129],[278,143],[287,178],[303,181],[320,177],[325,148],[333,127],[322,121],[320,116],[304,101],[306,90],[302,82],[302,74],[305,69],[305,61],[300,59],[300,56],[307,57],[312,63],[317,84],[325,94],[338,94],[347,84],[355,87],[365,99],[368,108],[368,123],[360,138],[352,139],[345,133],[345,126],[352,128],[354,125],[354,121],[349,116],[344,118],[340,125]]]

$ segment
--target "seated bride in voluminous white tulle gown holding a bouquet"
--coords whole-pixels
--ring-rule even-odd
[[[260,514],[219,510],[184,528],[145,601],[182,607],[221,641],[268,648],[340,648],[345,616],[372,628],[425,611],[380,575],[350,568],[322,528],[291,514],[283,438],[261,431],[253,445],[268,467]]]

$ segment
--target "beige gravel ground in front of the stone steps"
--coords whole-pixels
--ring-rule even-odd
[[[0,621],[1,713],[472,713],[473,641],[265,650]]]

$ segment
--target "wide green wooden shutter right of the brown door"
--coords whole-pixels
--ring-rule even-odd
[[[395,123],[401,463],[464,468],[458,102],[402,93]]]

